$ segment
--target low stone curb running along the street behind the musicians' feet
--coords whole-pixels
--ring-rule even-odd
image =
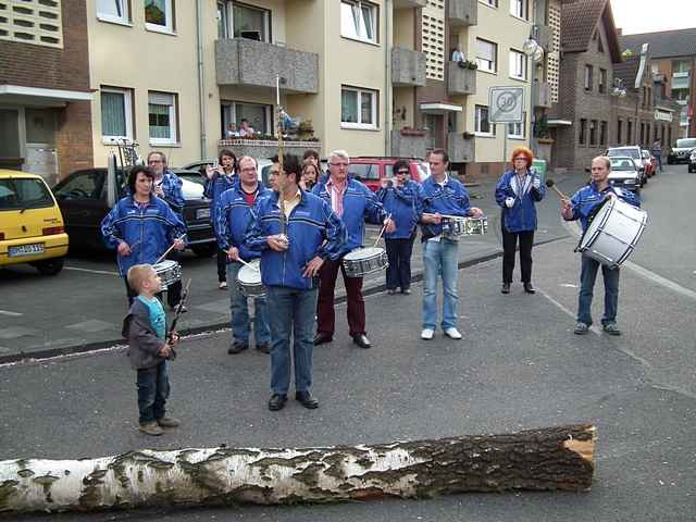
[[[550,239],[536,241],[534,243],[534,246],[536,247],[536,246],[547,245],[549,243],[556,243],[562,239],[567,239],[568,237],[571,237],[571,236],[563,235],[560,237],[554,237]],[[464,261],[459,261],[458,270],[485,263],[487,261],[499,258],[501,256],[502,256],[502,250],[497,249],[486,254],[482,254]],[[413,276],[411,277],[411,282],[421,282],[421,281],[423,281],[423,272],[418,272],[413,274]],[[373,296],[375,294],[380,294],[385,290],[386,290],[386,283],[380,283],[376,285],[372,285],[368,288],[364,288],[362,294],[363,296]],[[334,300],[334,303],[339,304],[339,303],[346,302],[346,299],[347,299],[346,295],[337,296],[336,299]],[[212,332],[215,330],[224,330],[228,327],[229,327],[229,321],[225,321],[224,323],[213,323],[213,324],[207,324],[203,326],[196,326],[192,328],[185,328],[179,332],[179,335],[182,336],[196,335],[196,334],[202,334],[206,332]],[[13,362],[15,363],[15,362],[39,361],[42,359],[50,359],[52,357],[72,356],[77,353],[85,353],[88,351],[103,350],[105,348],[111,348],[111,347],[124,345],[124,344],[125,344],[125,340],[120,337],[117,339],[97,340],[94,343],[85,343],[83,345],[63,346],[60,348],[47,348],[44,350],[36,350],[28,353],[24,351],[20,351],[18,353],[0,356],[0,364],[8,364]]]

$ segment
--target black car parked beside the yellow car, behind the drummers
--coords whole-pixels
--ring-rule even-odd
[[[184,220],[188,247],[198,256],[215,252],[216,239],[210,224],[210,200],[203,197],[203,185],[196,171],[177,170],[184,192]],[[125,194],[125,177],[116,171],[119,194]],[[109,213],[107,202],[107,169],[86,169],[70,174],[53,188],[58,204],[65,216],[65,229],[71,246],[82,249],[104,249],[101,221]]]

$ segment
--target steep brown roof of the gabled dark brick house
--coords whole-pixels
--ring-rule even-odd
[[[562,3],[561,50],[585,52],[600,22],[605,24],[611,61],[620,62],[621,51],[609,0],[566,0]]]

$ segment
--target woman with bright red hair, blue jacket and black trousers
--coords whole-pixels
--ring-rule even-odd
[[[535,291],[532,286],[532,244],[536,229],[536,203],[544,199],[546,187],[532,170],[533,159],[530,149],[517,147],[512,151],[512,169],[502,174],[496,186],[496,202],[502,209],[502,294],[510,294],[518,240],[524,291]]]

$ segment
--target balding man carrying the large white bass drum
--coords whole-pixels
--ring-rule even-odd
[[[592,179],[589,185],[577,190],[571,200],[561,200],[561,215],[567,221],[580,220],[583,232],[589,225],[589,216],[606,198],[617,197],[634,207],[641,201],[633,192],[612,187],[609,184],[611,160],[598,156],[592,160]],[[580,272],[580,294],[577,296],[577,324],[574,333],[585,335],[592,326],[592,297],[597,278],[599,261],[583,256]],[[601,265],[605,281],[605,313],[601,318],[604,331],[609,335],[621,335],[617,326],[617,311],[619,309],[619,268],[610,269]]]

